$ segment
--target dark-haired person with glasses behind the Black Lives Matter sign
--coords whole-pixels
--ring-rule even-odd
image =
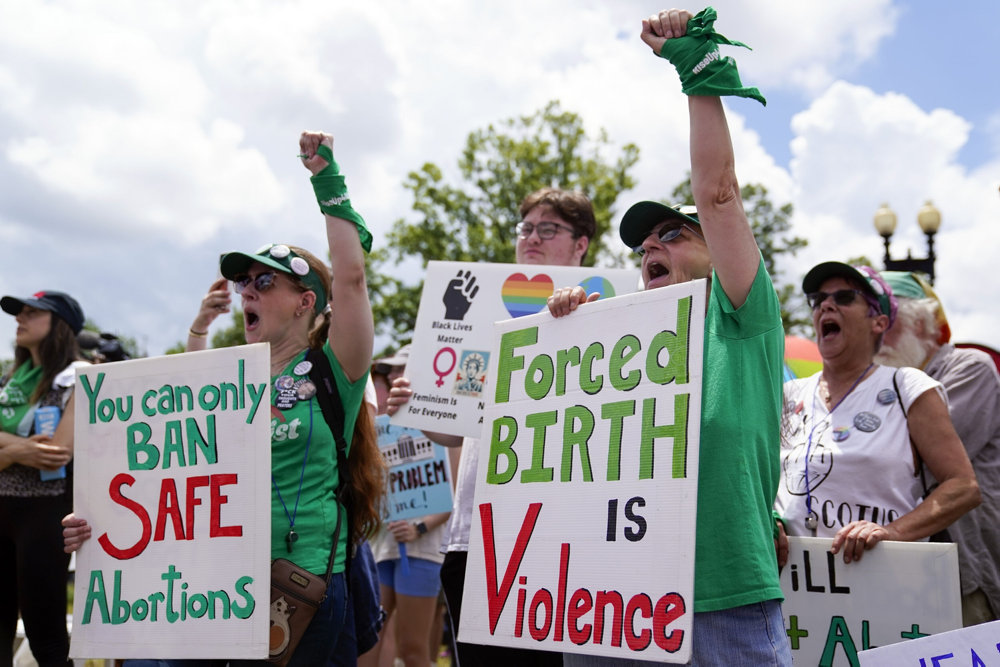
[[[594,207],[582,192],[542,188],[532,192],[519,207],[521,222],[514,227],[517,235],[514,256],[517,264],[580,266],[590,241],[597,231]],[[389,414],[394,414],[412,396],[405,377],[393,382],[389,395]],[[461,447],[458,473],[455,475],[455,505],[445,529],[442,550],[441,588],[452,632],[459,631],[462,593],[472,528],[473,496],[476,470],[479,467],[478,438],[462,438],[444,433],[425,434],[446,447]],[[548,651],[529,651],[504,646],[485,646],[456,641],[456,664],[476,667],[506,665],[561,665],[562,655]]]

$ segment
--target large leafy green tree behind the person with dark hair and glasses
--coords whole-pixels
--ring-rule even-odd
[[[422,274],[429,260],[514,261],[518,206],[539,188],[586,193],[597,219],[586,264],[599,257],[615,261],[618,255],[604,250],[601,239],[618,195],[634,185],[629,172],[638,159],[634,144],[616,147],[603,130],[588,136],[580,116],[553,101],[469,134],[455,183],[430,162],[410,172],[403,187],[413,194],[415,215],[393,224],[368,264],[377,333],[391,334],[397,344],[409,338],[423,282],[406,274]]]

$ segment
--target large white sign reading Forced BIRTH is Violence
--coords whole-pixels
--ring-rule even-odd
[[[705,281],[498,322],[459,638],[690,657]]]

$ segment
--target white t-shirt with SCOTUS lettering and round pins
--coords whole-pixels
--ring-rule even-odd
[[[941,383],[915,368],[879,366],[831,414],[819,397],[821,375],[785,383],[775,508],[790,535],[833,537],[852,521],[892,523],[924,495],[903,407],[909,412],[930,390],[946,400]],[[807,503],[815,531],[806,526]]]

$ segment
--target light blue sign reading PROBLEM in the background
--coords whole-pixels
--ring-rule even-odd
[[[390,424],[386,415],[375,418],[375,430],[382,457],[389,466],[386,520],[450,512],[451,462],[445,448],[417,429]]]

